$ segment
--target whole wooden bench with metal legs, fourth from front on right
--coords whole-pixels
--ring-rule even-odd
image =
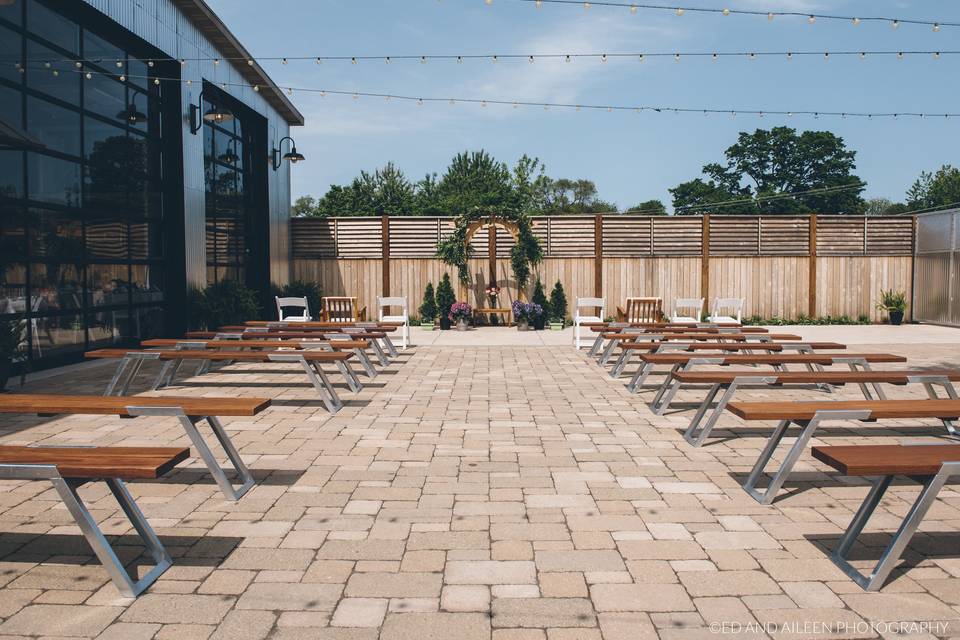
[[[673,377],[677,371],[691,371],[694,367],[702,365],[729,366],[729,365],[767,365],[774,370],[783,372],[787,370],[788,364],[802,364],[808,369],[816,367],[828,367],[834,364],[845,364],[851,371],[857,371],[858,367],[869,371],[871,363],[893,363],[906,362],[903,356],[897,356],[890,353],[844,353],[842,355],[830,355],[824,353],[768,353],[768,354],[733,354],[716,356],[700,355],[694,353],[641,353],[640,360],[643,364],[637,369],[636,374],[627,385],[627,389],[635,393],[647,377],[653,372],[657,365],[670,365],[670,373],[664,378],[656,396],[650,403],[650,408],[657,415],[662,415],[670,405],[673,397],[677,395],[680,389],[680,381]],[[879,385],[873,385],[877,397],[883,399],[885,396]]]

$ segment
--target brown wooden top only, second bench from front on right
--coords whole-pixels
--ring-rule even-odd
[[[871,418],[957,418],[960,400],[817,400],[731,402],[727,411],[744,420],[810,420],[817,411],[869,411]]]

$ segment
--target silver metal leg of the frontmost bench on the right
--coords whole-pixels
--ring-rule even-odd
[[[850,523],[850,526],[847,527],[847,531],[840,539],[837,550],[830,555],[830,559],[864,590],[879,590],[880,587],[883,586],[883,583],[886,582],[893,567],[900,560],[903,550],[910,544],[913,534],[917,532],[917,528],[923,521],[927,511],[936,501],[937,494],[940,493],[940,490],[943,488],[943,485],[946,484],[947,480],[957,473],[960,473],[960,462],[945,462],[935,476],[924,479],[923,490],[920,491],[917,500],[913,503],[913,506],[910,507],[910,511],[906,517],[904,517],[903,522],[900,523],[900,528],[893,534],[890,544],[884,549],[883,555],[880,556],[880,560],[877,562],[873,571],[870,572],[870,575],[864,575],[850,565],[847,561],[847,554],[863,530],[867,520],[873,514],[877,505],[880,504],[880,499],[883,497],[884,492],[890,485],[890,481],[893,479],[892,476],[877,478],[877,480],[874,481],[873,488],[870,489],[870,493],[867,494],[867,498],[863,501],[859,511],[857,511],[853,521]]]

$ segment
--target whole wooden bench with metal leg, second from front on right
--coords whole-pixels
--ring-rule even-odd
[[[797,460],[817,428],[825,420],[878,420],[937,418],[944,425],[953,424],[960,417],[960,400],[842,400],[836,402],[731,402],[727,411],[746,421],[776,420],[777,427],[766,447],[757,458],[743,488],[761,504],[771,504],[789,477]],[[757,482],[776,453],[777,447],[791,424],[801,428],[800,435],[784,456],[780,469],[770,479],[765,491],[757,489]]]

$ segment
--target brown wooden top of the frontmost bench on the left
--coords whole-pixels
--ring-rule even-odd
[[[182,447],[4,447],[0,464],[52,464],[64,478],[159,478],[190,457]]]

